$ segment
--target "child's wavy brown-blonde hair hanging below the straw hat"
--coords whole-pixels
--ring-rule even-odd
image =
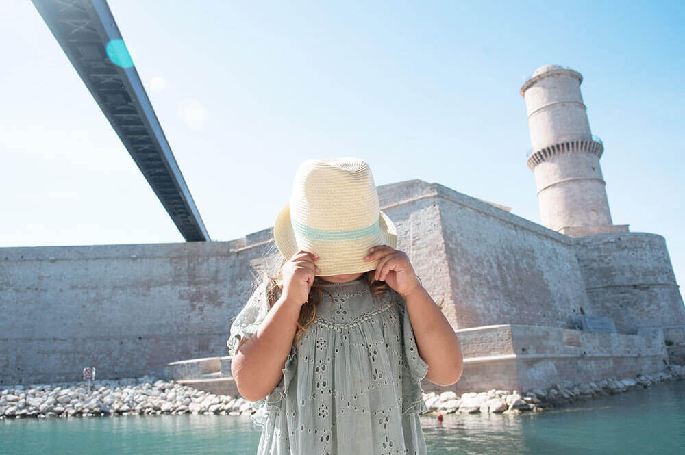
[[[275,304],[276,300],[278,300],[279,292],[276,289],[279,289],[279,291],[283,291],[283,266],[286,264],[288,259],[290,259],[284,257],[278,250],[276,250],[275,252],[275,257],[277,264],[275,272],[267,272],[266,274],[264,274],[264,281],[266,281],[266,304],[268,305],[268,309],[271,309],[271,307],[273,307],[273,304]],[[390,290],[390,287],[387,285],[385,281],[374,280],[374,275],[375,270],[369,270],[368,272],[364,272],[366,281],[369,283],[369,289],[371,290],[371,294],[380,295]],[[314,324],[314,320],[316,320],[316,311],[319,307],[319,304],[321,304],[323,295],[328,294],[329,298],[333,300],[333,296],[329,291],[323,289],[322,287],[319,287],[321,283],[328,282],[324,281],[319,276],[315,276],[314,283],[312,284],[312,287],[309,291],[307,302],[302,305],[299,317],[297,318],[297,329],[295,330],[295,337],[292,340],[292,346],[295,346],[295,344],[297,344],[297,341],[300,339],[303,333],[306,332],[307,328]]]

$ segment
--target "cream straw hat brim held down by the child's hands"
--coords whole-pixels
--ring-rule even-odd
[[[376,244],[397,248],[397,230],[395,229],[395,224],[393,224],[393,221],[381,210],[379,210],[378,225],[380,231],[379,240],[370,238],[369,242],[362,245],[362,248],[359,248],[360,244],[357,244],[356,248],[336,250],[333,255],[331,255],[331,250],[328,248],[327,255],[323,257],[323,252],[312,251],[320,256],[319,261],[316,261],[316,266],[319,267],[321,271],[315,275],[331,276],[375,270],[379,261],[365,262],[364,251],[368,252],[369,248],[376,246]],[[290,223],[290,203],[286,203],[278,213],[273,225],[273,237],[278,250],[286,260],[290,259],[292,255],[295,255],[299,250],[306,249],[298,246],[297,239],[295,239],[295,232],[292,231],[292,224]]]

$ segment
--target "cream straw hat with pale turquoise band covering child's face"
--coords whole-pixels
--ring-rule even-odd
[[[351,157],[300,164],[273,236],[286,259],[299,250],[319,255],[316,276],[374,270],[377,260],[364,262],[369,248],[397,246],[395,225],[379,209],[369,165]]]

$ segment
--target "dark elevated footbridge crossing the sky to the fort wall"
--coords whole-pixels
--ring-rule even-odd
[[[32,0],[187,242],[210,240],[105,0]]]

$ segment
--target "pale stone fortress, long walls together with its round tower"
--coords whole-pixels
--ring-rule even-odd
[[[377,187],[397,249],[460,339],[464,374],[442,389],[545,389],[685,363],[665,239],[612,224],[581,82],[545,65],[521,87],[542,226],[438,183]],[[229,327],[274,251],[271,228],[229,242],[0,248],[0,385],[96,367],[234,387]]]

